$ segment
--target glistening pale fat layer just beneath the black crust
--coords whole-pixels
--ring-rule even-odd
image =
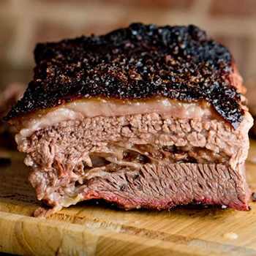
[[[44,113],[33,113],[15,121],[20,130],[16,142],[30,137],[35,131],[52,127],[61,121],[78,120],[95,116],[124,116],[145,113],[158,113],[163,118],[202,118],[212,115],[208,102],[178,102],[174,99],[159,98],[124,102],[115,99],[80,99],[69,102]]]

